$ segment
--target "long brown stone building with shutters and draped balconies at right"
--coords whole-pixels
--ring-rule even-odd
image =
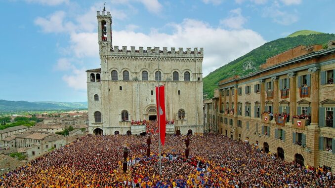
[[[334,43],[334,42],[333,42]],[[218,133],[335,172],[335,48],[296,46],[217,85]]]

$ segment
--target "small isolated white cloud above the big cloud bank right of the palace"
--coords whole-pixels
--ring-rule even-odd
[[[231,29],[242,29],[247,19],[242,16],[241,11],[241,8],[231,10],[231,15],[226,19],[220,20],[220,24]]]

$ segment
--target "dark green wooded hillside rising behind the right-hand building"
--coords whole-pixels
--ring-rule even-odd
[[[324,44],[335,39],[335,34],[299,35],[297,37],[279,38],[253,49],[246,55],[216,69],[204,77],[203,91],[206,98],[213,97],[213,90],[216,83],[233,75],[248,75],[258,70],[259,65],[266,62],[266,59],[289,50],[297,45]],[[205,57],[206,58],[206,57]]]

